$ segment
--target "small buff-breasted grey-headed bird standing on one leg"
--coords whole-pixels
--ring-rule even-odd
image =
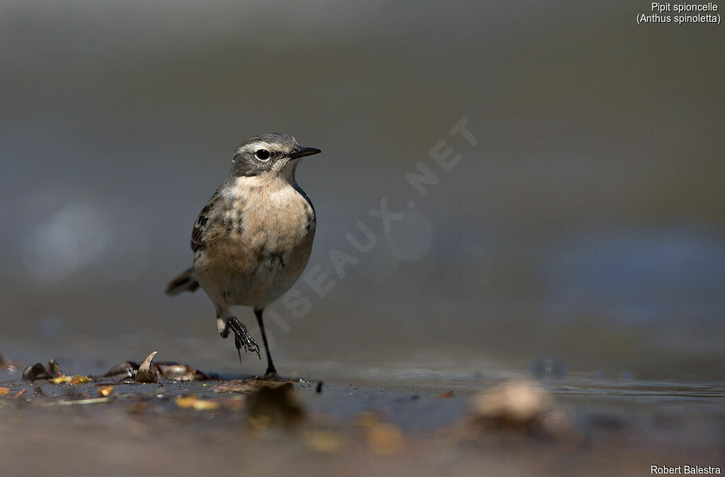
[[[238,146],[227,178],[194,223],[194,265],[166,288],[174,296],[201,287],[215,306],[220,336],[234,333],[240,362],[242,347],[261,360],[260,348],[229,309],[252,307],[267,355],[265,378],[279,376],[263,312],[302,275],[315,238],[315,207],[295,172],[303,157],[320,152],[283,133],[253,136]]]

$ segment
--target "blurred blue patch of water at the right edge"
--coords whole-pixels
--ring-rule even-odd
[[[725,310],[725,241],[714,231],[603,231],[562,241],[543,266],[551,318],[589,309],[624,323],[717,324]]]

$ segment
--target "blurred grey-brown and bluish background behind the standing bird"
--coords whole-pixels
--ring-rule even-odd
[[[323,149],[297,179],[337,282],[271,307],[281,371],[722,380],[725,41],[649,5],[2,1],[0,352],[239,372],[207,297],[163,291],[235,146],[281,131]]]

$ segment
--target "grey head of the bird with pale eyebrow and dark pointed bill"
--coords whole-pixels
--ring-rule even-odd
[[[260,134],[236,148],[231,174],[236,177],[258,175],[294,181],[294,168],[299,159],[318,152],[321,152],[320,149],[300,146],[295,138],[286,134]]]

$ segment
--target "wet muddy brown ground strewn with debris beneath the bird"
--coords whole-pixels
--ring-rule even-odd
[[[323,383],[21,374],[0,371],[3,475],[629,476],[655,464],[723,466],[717,385],[420,371]]]

